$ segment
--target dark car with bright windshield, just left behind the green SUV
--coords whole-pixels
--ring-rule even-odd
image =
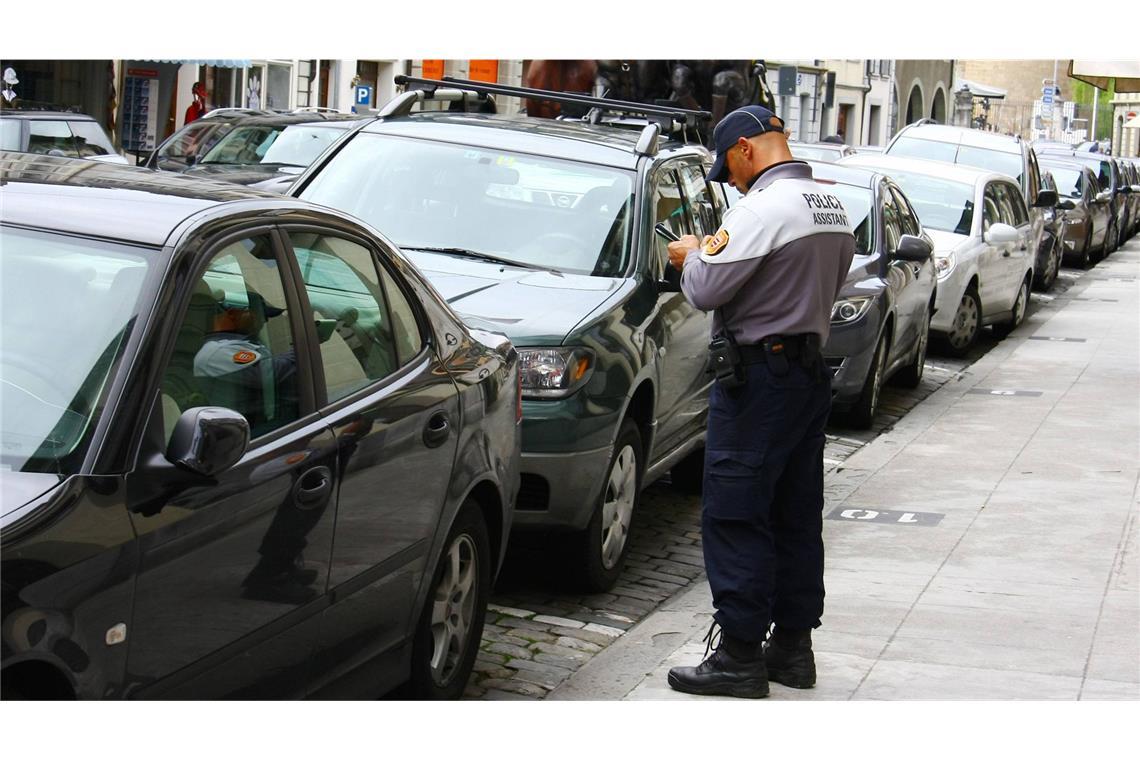
[[[324,121],[296,122],[295,116],[262,116],[234,125],[186,174],[284,193],[325,148],[361,119],[331,114]]]

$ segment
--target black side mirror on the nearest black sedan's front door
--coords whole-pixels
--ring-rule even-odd
[[[250,423],[233,409],[194,407],[174,424],[166,459],[204,477],[214,477],[245,456]]]

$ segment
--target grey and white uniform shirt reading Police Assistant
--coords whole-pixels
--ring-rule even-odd
[[[855,236],[829,183],[801,161],[769,166],[724,215],[703,247],[690,251],[681,288],[698,309],[720,308],[741,344],[815,333],[825,343],[831,308],[855,256]]]

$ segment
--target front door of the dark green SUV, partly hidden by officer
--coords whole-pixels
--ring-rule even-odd
[[[646,218],[650,229],[645,234],[645,240],[650,250],[649,273],[654,283],[663,279],[679,281],[679,277],[669,264],[669,242],[656,234],[652,226],[661,224],[677,237],[698,235],[690,206],[685,202],[685,186],[678,173],[681,167],[678,161],[665,163],[649,179]],[[699,363],[703,373],[703,357],[709,337],[707,326],[702,330],[703,324],[705,316],[689,303],[683,293],[658,291],[657,311],[645,328],[645,341],[649,344],[646,354],[653,352],[658,368],[658,430],[653,452],[649,456],[651,461],[673,448],[694,422],[684,410],[687,407],[686,399],[698,392],[692,365]]]

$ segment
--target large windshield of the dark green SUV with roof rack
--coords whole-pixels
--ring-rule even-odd
[[[613,277],[629,255],[630,174],[490,148],[358,133],[301,197],[404,248],[463,248]]]

